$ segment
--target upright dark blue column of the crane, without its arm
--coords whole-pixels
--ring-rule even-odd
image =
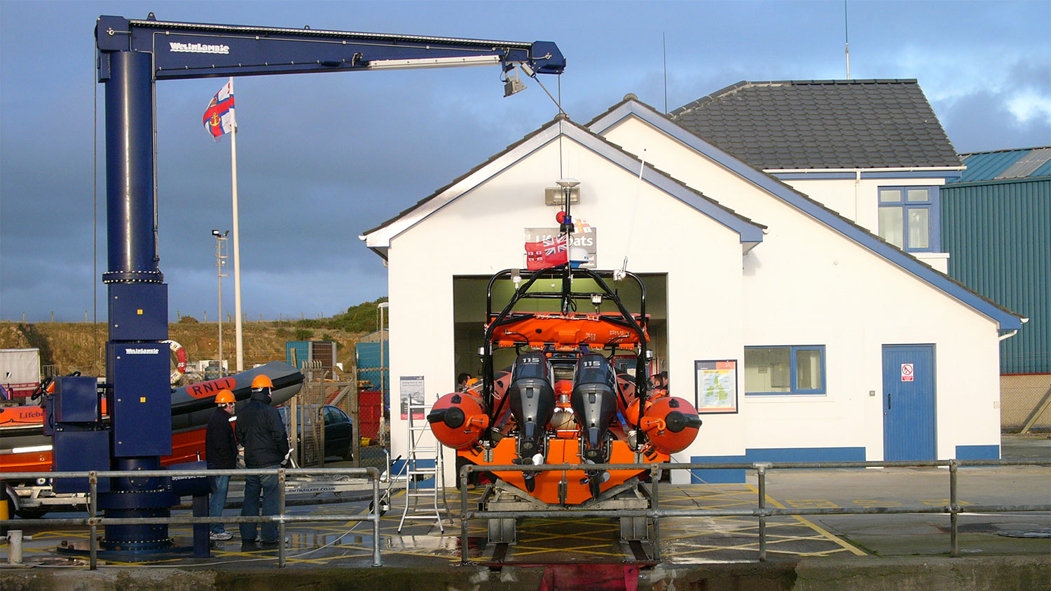
[[[103,52],[105,81],[106,208],[109,340],[106,374],[110,469],[157,470],[171,453],[168,385],[168,286],[158,269],[153,206],[153,80],[151,56]],[[110,518],[167,516],[179,499],[167,479],[112,479],[99,507]],[[166,525],[106,526],[107,550],[171,546]]]

